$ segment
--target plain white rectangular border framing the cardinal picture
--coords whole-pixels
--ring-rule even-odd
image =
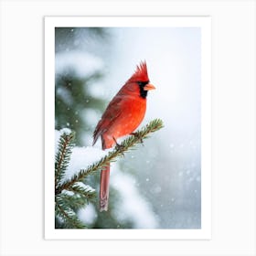
[[[211,238],[211,18],[170,16],[45,17],[45,238],[61,240],[209,240]],[[54,228],[55,27],[201,27],[201,229]],[[51,185],[51,186],[50,186]]]

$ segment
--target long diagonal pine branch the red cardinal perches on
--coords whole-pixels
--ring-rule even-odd
[[[83,181],[86,176],[91,175],[92,173],[104,168],[104,166],[109,165],[111,162],[114,162],[118,156],[122,156],[124,152],[132,149],[135,144],[142,143],[150,133],[154,133],[163,127],[163,122],[160,119],[155,119],[146,124],[140,131],[133,133],[133,135],[123,140],[122,144],[116,145],[114,149],[108,155],[101,158],[99,162],[90,165],[86,169],[80,170],[78,174],[72,176],[68,181],[57,186],[55,190],[56,195],[59,195],[59,193],[64,189],[70,190],[70,187],[73,187],[75,183]]]

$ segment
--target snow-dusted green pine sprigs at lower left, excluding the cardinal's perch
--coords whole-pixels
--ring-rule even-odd
[[[64,132],[59,137],[58,152],[55,156],[55,220],[56,228],[83,229],[85,224],[77,217],[77,211],[84,208],[96,197],[95,190],[83,183],[73,183],[67,189],[59,189],[65,181],[69,166],[75,133]]]

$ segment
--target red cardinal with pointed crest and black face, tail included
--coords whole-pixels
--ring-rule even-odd
[[[144,119],[147,91],[154,89],[149,83],[146,63],[141,62],[103,113],[93,133],[93,144],[101,136],[102,149],[111,148],[118,138],[133,133]],[[101,170],[101,211],[108,210],[109,182],[110,165]]]

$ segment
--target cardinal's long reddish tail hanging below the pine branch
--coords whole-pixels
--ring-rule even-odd
[[[110,187],[110,164],[101,170],[100,211],[108,210]]]

